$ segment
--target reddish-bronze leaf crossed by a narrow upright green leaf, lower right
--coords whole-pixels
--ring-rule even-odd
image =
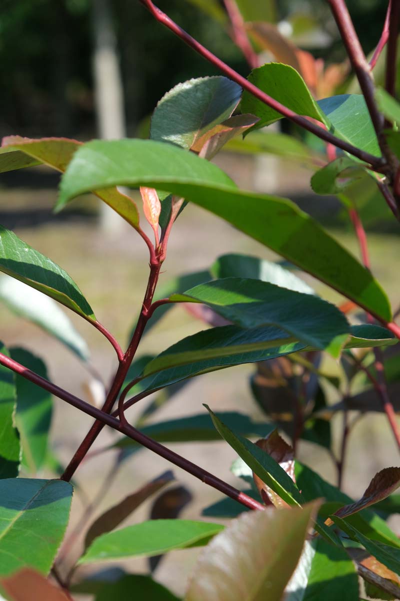
[[[276,463],[279,463],[282,469],[291,477],[293,482],[296,482],[294,478],[294,455],[293,449],[287,442],[279,436],[278,430],[273,430],[266,438],[261,438],[255,443],[257,447],[260,447],[265,453],[270,455],[272,459],[275,459]],[[253,472],[253,478],[255,485],[260,492],[261,498],[266,505],[275,505],[275,507],[288,507],[288,504],[283,501],[269,486],[267,486],[261,478],[259,478]]]

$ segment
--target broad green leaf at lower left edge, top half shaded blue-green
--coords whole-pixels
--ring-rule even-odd
[[[62,480],[0,480],[0,576],[47,575],[64,537],[73,488]]]

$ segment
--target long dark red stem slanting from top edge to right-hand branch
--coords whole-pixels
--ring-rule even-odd
[[[209,63],[213,64],[217,69],[219,69],[222,73],[224,73],[228,78],[232,81],[239,84],[244,90],[247,90],[250,94],[258,98],[261,102],[275,109],[275,111],[279,112],[284,117],[287,117],[293,123],[296,123],[303,129],[308,130],[311,133],[314,133],[318,138],[323,139],[326,142],[331,142],[338,148],[342,148],[342,150],[347,151],[353,156],[358,157],[359,159],[365,161],[369,165],[372,165],[378,171],[385,171],[386,160],[382,157],[374,156],[373,154],[369,154],[360,148],[356,148],[352,144],[345,142],[336,136],[332,135],[332,133],[327,132],[322,127],[319,127],[308,121],[304,117],[300,117],[291,109],[288,109],[287,106],[282,105],[280,102],[277,102],[272,97],[265,94],[255,85],[251,84],[247,79],[243,78],[239,73],[237,73],[234,69],[231,69],[226,63],[221,61],[218,56],[215,56],[210,50],[207,50],[204,46],[202,46],[197,40],[195,40],[191,35],[189,35],[184,29],[179,27],[169,16],[167,16],[160,8],[155,7],[151,0],[139,0],[145,5],[146,8],[151,12],[151,14],[155,17],[155,19],[165,25],[168,29],[170,29],[175,35],[178,35],[182,41],[184,41],[188,46],[196,50],[201,56],[203,56]]]

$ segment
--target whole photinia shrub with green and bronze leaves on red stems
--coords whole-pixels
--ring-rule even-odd
[[[124,350],[98,322],[71,276],[0,226],[2,302],[92,369],[88,346],[59,307],[64,305],[97,328],[118,358],[106,400],[98,408],[50,382],[38,356],[24,348],[1,347],[2,594],[14,601],[61,601],[75,594],[91,594],[97,601],[145,595],[154,601],[178,599],[153,573],[167,552],[203,546],[185,601],[399,598],[400,542],[386,520],[400,512],[399,496],[393,495],[400,468],[389,465],[378,472],[356,501],[342,492],[341,483],[348,436],[366,411],[386,413],[400,449],[399,406],[392,398],[400,377],[400,327],[371,272],[363,228],[363,216],[366,221],[387,213],[400,218],[400,105],[395,100],[400,4],[389,2],[381,39],[368,62],[344,0],[328,0],[360,94],[335,94],[339,84],[344,90],[348,64],[323,69],[279,33],[267,2],[225,0],[222,8],[216,0],[193,1],[228,28],[248,60],[247,79],[151,0],[142,4],[222,75],[190,79],[167,92],[154,109],[146,140],[82,144],[15,135],[2,141],[0,171],[45,164],[62,172],[56,211],[93,192],[127,221],[149,251],[148,285]],[[383,60],[385,45],[386,75],[379,86],[372,70]],[[260,64],[261,50],[275,60]],[[296,124],[296,135],[264,129],[284,117]],[[341,201],[362,260],[290,200],[239,189],[210,162],[221,148],[272,153],[313,166],[312,189]],[[143,230],[132,198],[117,186],[139,188],[152,236]],[[157,287],[173,225],[191,204],[224,219],[284,261],[222,252],[207,270]],[[303,281],[302,272],[335,290],[342,301],[337,306],[327,302]],[[179,304],[208,327],[156,356],[141,355],[143,336]],[[340,377],[324,369],[326,355],[341,364]],[[206,404],[196,415],[154,419],[191,378],[244,363],[254,364],[251,392],[263,421]],[[338,402],[327,402],[326,385],[336,390]],[[77,415],[85,412],[95,419],[65,467],[49,448],[53,397],[74,406]],[[128,409],[139,402],[143,410],[131,424]],[[339,455],[332,449],[330,425],[338,413],[343,417]],[[95,520],[94,506],[89,506],[65,538],[71,480],[104,426],[120,435],[111,447],[116,457],[112,475],[147,448],[214,487],[221,498],[204,507],[204,519],[179,519],[191,495],[166,472],[115,499]],[[244,490],[168,446],[221,439],[237,453],[231,472],[243,480]],[[296,459],[300,440],[329,452],[337,487]],[[54,478],[36,477],[44,466]],[[104,486],[110,486],[109,478]],[[124,526],[154,495],[151,519]],[[221,524],[221,519],[231,522]],[[81,533],[83,550],[76,558],[71,544]],[[147,575],[99,565],[87,576],[83,569],[133,557],[150,558]]]

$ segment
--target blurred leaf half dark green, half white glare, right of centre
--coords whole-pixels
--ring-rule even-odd
[[[284,269],[278,263],[266,261],[250,255],[227,254],[218,257],[210,272],[216,279],[220,278],[251,278],[270,282],[282,288],[314,294],[314,290],[294,273]],[[201,284],[203,282],[200,282]],[[183,290],[182,290],[183,291]]]

